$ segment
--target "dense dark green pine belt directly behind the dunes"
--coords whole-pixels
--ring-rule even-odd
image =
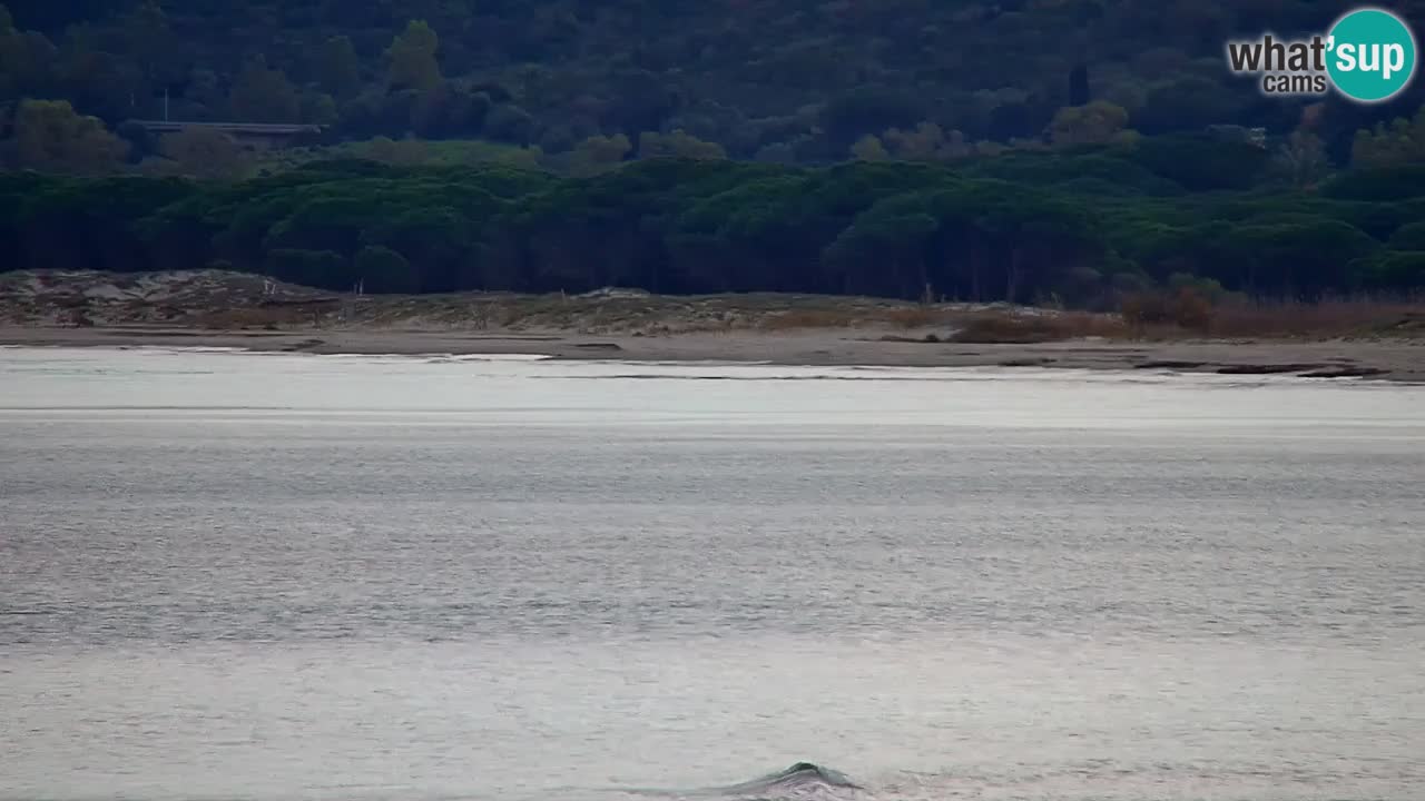
[[[557,177],[316,162],[242,182],[0,174],[4,267],[225,267],[369,292],[782,291],[1103,306],[1425,286],[1425,167],[1263,190],[1201,137],[945,164],[653,158]],[[1216,282],[1216,284],[1214,284]]]

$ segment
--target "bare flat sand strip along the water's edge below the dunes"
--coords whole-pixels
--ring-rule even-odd
[[[1425,341],[1077,339],[970,345],[922,342],[879,329],[730,331],[638,336],[563,331],[425,329],[209,331],[162,326],[0,326],[0,345],[67,348],[238,348],[319,355],[546,355],[627,362],[762,362],[808,366],[1054,368],[1220,375],[1368,378],[1425,383]]]

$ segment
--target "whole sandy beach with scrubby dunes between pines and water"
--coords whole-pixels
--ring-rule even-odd
[[[1382,319],[1388,325],[1361,324],[1385,335],[1133,338],[1112,315],[1002,304],[626,289],[352,298],[225,271],[0,274],[0,345],[1141,369],[1425,383],[1425,315],[1411,306]],[[976,321],[993,325],[985,336],[965,336]]]

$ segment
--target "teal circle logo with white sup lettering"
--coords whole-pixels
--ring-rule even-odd
[[[1351,100],[1389,100],[1415,76],[1415,34],[1389,11],[1357,9],[1327,36],[1327,73]]]

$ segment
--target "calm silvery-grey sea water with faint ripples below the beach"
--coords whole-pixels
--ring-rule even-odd
[[[1425,388],[0,349],[0,798],[701,792],[1425,798]]]

